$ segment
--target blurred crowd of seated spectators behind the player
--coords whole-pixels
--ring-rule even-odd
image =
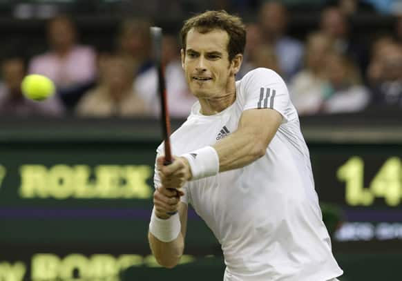
[[[253,68],[275,70],[287,82],[299,115],[402,108],[402,17],[394,30],[358,41],[351,35],[349,19],[360,12],[376,14],[365,1],[333,1],[320,11],[318,28],[298,40],[287,34],[286,6],[281,1],[263,2],[255,21],[246,22],[247,46],[237,79]],[[46,52],[1,61],[0,114],[157,117],[151,25],[149,19],[123,19],[115,50],[96,52],[95,46],[79,42],[73,19],[50,19]],[[164,34],[162,44],[169,111],[172,117],[186,117],[195,98],[182,71],[178,35]],[[29,73],[52,79],[57,93],[41,102],[23,97],[20,84]]]

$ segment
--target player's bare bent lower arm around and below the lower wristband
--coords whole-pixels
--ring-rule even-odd
[[[180,217],[181,229],[177,238],[171,242],[163,242],[157,239],[151,231],[148,233],[149,245],[151,246],[151,251],[155,256],[157,262],[162,265],[162,267],[167,267],[169,269],[175,267],[184,251],[184,238],[186,237],[186,226],[187,226],[187,204],[183,202],[178,203],[178,215]],[[157,217],[162,220],[161,218]]]

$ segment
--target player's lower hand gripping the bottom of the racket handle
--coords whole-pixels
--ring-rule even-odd
[[[153,204],[155,206],[155,215],[162,220],[169,219],[169,213],[178,211],[180,197],[184,195],[179,189],[165,188],[160,186],[153,193]]]

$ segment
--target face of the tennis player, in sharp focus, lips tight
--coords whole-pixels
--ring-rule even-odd
[[[227,93],[229,78],[234,78],[240,67],[233,61],[229,63],[228,43],[229,35],[224,30],[202,34],[192,28],[187,33],[182,66],[195,97],[213,98]]]

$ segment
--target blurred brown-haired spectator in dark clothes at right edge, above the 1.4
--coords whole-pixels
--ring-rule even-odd
[[[402,106],[402,47],[383,42],[370,64],[372,104]],[[375,70],[373,70],[373,68]]]

